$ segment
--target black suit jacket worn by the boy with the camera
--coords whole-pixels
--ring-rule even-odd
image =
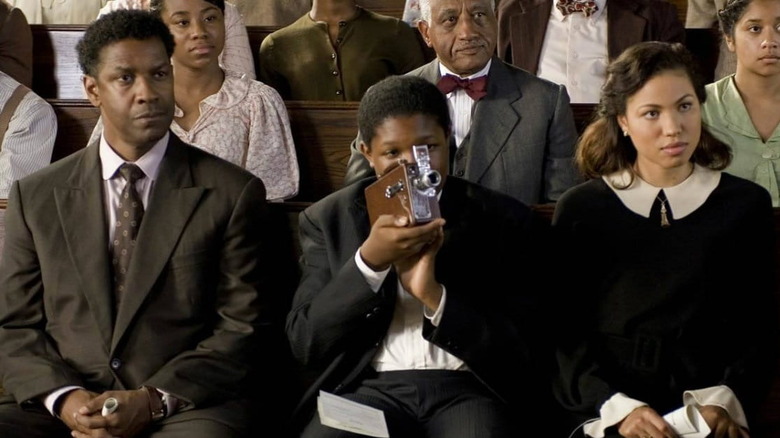
[[[350,391],[370,366],[393,315],[397,277],[378,292],[354,261],[370,226],[361,180],[315,203],[300,215],[303,278],[287,318],[293,354],[318,378],[299,406],[310,413],[318,390]],[[533,403],[550,398],[539,372],[545,329],[539,322],[548,224],[520,202],[456,177],[441,195],[447,223],[436,257],[446,288],[441,323],[424,321],[423,335],[461,358],[498,397]],[[533,282],[533,284],[538,284]]]

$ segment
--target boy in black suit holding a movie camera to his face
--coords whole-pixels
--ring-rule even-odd
[[[540,291],[522,280],[545,277],[548,225],[513,198],[447,176],[450,116],[434,84],[380,81],[361,100],[358,125],[380,178],[428,146],[441,218],[411,225],[413,217],[382,215],[371,225],[364,191],[375,177],[301,213],[303,277],[287,335],[317,378],[296,433],[357,436],[320,424],[320,390],[382,410],[392,437],[533,429],[551,406],[551,356],[539,335],[549,318]]]

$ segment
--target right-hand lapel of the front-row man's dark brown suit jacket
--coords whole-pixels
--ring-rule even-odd
[[[204,188],[193,186],[189,154],[175,135],[170,136],[152,190],[127,272],[127,287],[118,309],[112,349],[152,291],[204,192]]]

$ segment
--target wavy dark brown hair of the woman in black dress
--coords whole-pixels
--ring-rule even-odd
[[[628,99],[650,79],[670,70],[684,72],[699,103],[704,103],[707,99],[704,79],[693,56],[680,43],[638,43],[610,63],[594,120],[577,142],[575,160],[586,177],[595,178],[622,170],[634,175],[636,149],[629,137],[620,135],[618,116],[625,115]],[[710,169],[723,170],[731,163],[731,158],[731,149],[702,127],[691,161]]]

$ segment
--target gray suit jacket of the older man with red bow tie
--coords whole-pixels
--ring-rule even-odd
[[[407,74],[437,83],[439,61]],[[573,163],[576,140],[565,87],[493,58],[487,95],[474,107],[471,131],[450,173],[527,205],[553,202],[580,181]],[[346,184],[373,174],[356,144]]]

